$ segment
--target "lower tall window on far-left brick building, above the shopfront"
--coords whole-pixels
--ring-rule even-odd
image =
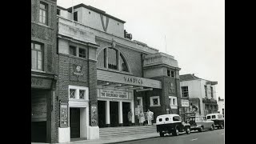
[[[42,44],[31,42],[31,69],[43,70]]]

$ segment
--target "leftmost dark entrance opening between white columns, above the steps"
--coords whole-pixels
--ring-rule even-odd
[[[106,127],[106,101],[98,101],[98,127]]]

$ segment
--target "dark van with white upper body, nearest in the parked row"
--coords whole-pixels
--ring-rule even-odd
[[[178,114],[163,114],[156,119],[157,132],[160,137],[164,134],[178,135],[179,132],[190,134],[190,124],[182,122],[182,118]]]

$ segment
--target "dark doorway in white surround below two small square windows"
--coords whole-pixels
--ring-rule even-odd
[[[70,108],[70,138],[80,138],[79,108]]]

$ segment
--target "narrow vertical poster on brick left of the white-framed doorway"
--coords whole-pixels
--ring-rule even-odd
[[[67,103],[61,103],[60,105],[60,127],[68,127]]]

